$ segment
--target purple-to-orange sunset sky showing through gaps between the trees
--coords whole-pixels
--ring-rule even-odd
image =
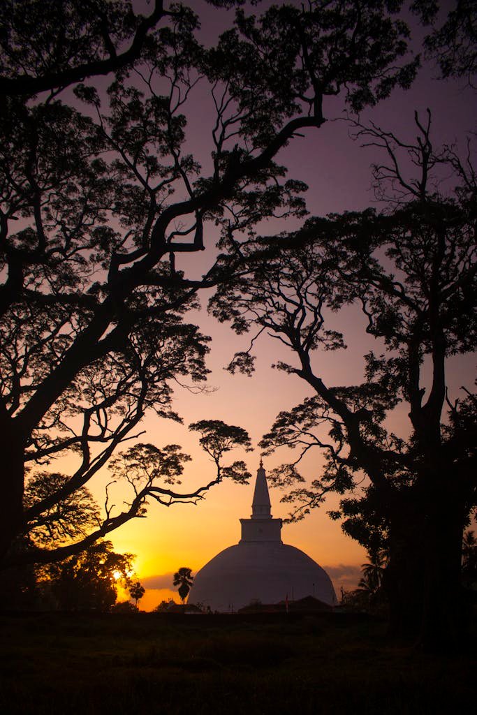
[[[205,41],[212,41],[220,26],[232,19],[232,12],[220,11],[199,1],[192,6],[202,14]],[[263,6],[263,5],[262,5]],[[255,12],[260,12],[260,5]],[[422,35],[422,31],[421,31]],[[362,119],[372,118],[376,124],[391,129],[403,138],[415,136],[413,112],[421,114],[430,107],[433,112],[433,138],[441,142],[459,142],[463,147],[465,132],[475,129],[475,94],[465,87],[464,82],[437,81],[437,70],[426,67],[408,92],[400,90],[390,99],[382,102],[372,112],[363,114]],[[197,154],[207,166],[212,148],[210,132],[214,120],[212,107],[205,83],[197,87],[192,99],[189,117],[188,149]],[[305,136],[290,142],[277,157],[285,164],[290,177],[305,181],[310,189],[307,203],[310,213],[324,215],[342,212],[345,209],[362,209],[374,203],[370,190],[370,164],[375,160],[373,149],[360,148],[348,136],[349,127],[342,121],[343,98],[327,99],[324,112],[328,122],[320,129],[309,129]],[[291,223],[268,222],[264,232],[273,234],[294,227]],[[207,250],[188,257],[177,257],[177,267],[187,273],[202,275],[214,257],[217,238],[213,227],[205,233]],[[182,415],[185,425],[202,418],[225,420],[247,429],[254,444],[271,426],[275,415],[299,403],[309,395],[305,383],[294,376],[277,373],[270,364],[277,359],[290,362],[292,358],[276,340],[265,337],[257,347],[257,370],[252,378],[242,375],[235,377],[226,373],[223,366],[232,358],[235,350],[247,347],[247,337],[235,336],[226,325],[207,316],[207,312],[193,315],[188,320],[196,320],[203,332],[212,336],[208,367],[212,370],[209,391],[192,395],[187,389],[177,388],[174,409]],[[353,384],[363,378],[363,355],[374,345],[368,336],[363,337],[365,321],[358,310],[348,310],[341,317],[340,327],[345,333],[348,350],[316,355],[315,365],[319,374],[330,385]],[[472,384],[473,357],[456,359],[455,372],[451,376],[451,397],[462,384]],[[466,382],[465,382],[466,380]],[[394,415],[393,428],[407,430],[405,410],[398,409]],[[186,426],[159,420],[148,415],[142,428],[146,434],[141,441],[150,441],[157,446],[177,443],[190,453],[193,460],[185,471],[184,488],[205,483],[213,476],[213,465],[197,446],[196,433],[189,433]],[[286,461],[286,454],[280,453],[265,460],[268,471]],[[260,460],[259,450],[244,455],[237,451],[232,459],[245,458],[250,471],[255,473]],[[318,474],[320,455],[310,455],[304,462],[303,473],[309,478]],[[96,480],[94,494],[99,503],[103,501],[104,483],[108,479],[105,471]],[[280,504],[280,493],[272,490],[272,513],[275,517],[285,517],[286,506]],[[147,519],[135,519],[112,533],[112,541],[117,551],[137,554],[137,575],[147,587],[146,596],[141,601],[142,608],[154,607],[169,595],[164,591],[172,586],[172,573],[181,566],[192,568],[195,573],[212,556],[223,548],[237,543],[240,538],[240,517],[250,515],[252,485],[237,486],[222,484],[207,495],[198,506],[176,505],[171,508],[152,504]],[[282,538],[285,543],[302,548],[321,566],[328,567],[328,573],[339,593],[340,586],[349,588],[359,578],[359,565],[365,561],[365,553],[360,546],[343,535],[340,524],[332,522],[326,511],[334,508],[338,498],[330,498],[325,508],[312,513],[305,521],[284,526]],[[176,596],[177,598],[177,596]]]

